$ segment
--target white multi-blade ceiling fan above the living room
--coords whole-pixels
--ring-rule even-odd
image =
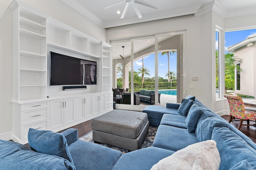
[[[158,9],[158,7],[159,7],[159,6],[155,5],[155,4],[151,4],[151,3],[146,2],[146,1],[143,1],[143,0],[122,0],[122,1],[120,1],[120,2],[116,2],[115,4],[112,4],[112,5],[110,5],[110,6],[107,6],[107,7],[105,7],[104,9],[106,10],[106,9],[112,7],[112,6],[121,4],[121,3],[123,3],[123,2],[126,2],[126,6],[125,6],[124,11],[123,11],[123,13],[122,13],[121,19],[124,18],[125,14],[126,14],[126,12],[127,12],[127,10],[128,10],[128,8],[129,8],[129,6],[132,6],[132,7],[133,7],[133,9],[134,9],[134,11],[135,11],[135,13],[137,14],[137,16],[138,16],[139,19],[142,18],[142,15],[140,14],[140,11],[139,11],[138,7],[137,7],[136,4],[134,4],[134,3],[141,4],[141,5],[144,5],[144,6],[148,6],[148,7],[150,7],[150,8],[154,8],[154,9]]]

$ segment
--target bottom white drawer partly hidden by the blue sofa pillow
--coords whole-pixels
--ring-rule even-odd
[[[50,127],[50,121],[42,121],[40,123],[35,123],[32,125],[24,125],[21,127],[21,140],[28,138],[28,130],[29,128],[47,130]]]

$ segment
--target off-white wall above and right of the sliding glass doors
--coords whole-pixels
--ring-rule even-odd
[[[112,40],[179,30],[186,30],[186,94],[196,96],[212,108],[211,12],[108,28],[107,36]],[[193,81],[192,76],[198,76],[198,81]],[[189,88],[190,85],[195,88]]]

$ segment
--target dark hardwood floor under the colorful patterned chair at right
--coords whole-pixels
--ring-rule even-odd
[[[226,121],[228,121],[229,119],[229,115],[224,115],[222,116],[223,119],[225,119]],[[231,121],[230,124],[234,125],[234,127],[238,127],[238,123],[239,123],[239,119],[238,121]],[[246,121],[244,122],[244,124],[246,123]],[[254,124],[255,121],[250,121],[250,124]],[[240,128],[240,131],[242,133],[244,133],[246,136],[248,136],[250,139],[252,139],[252,141],[254,141],[254,143],[256,143],[256,127],[254,126],[242,126]]]

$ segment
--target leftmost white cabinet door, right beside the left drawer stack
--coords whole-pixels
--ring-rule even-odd
[[[63,100],[50,101],[50,129],[64,125]]]

